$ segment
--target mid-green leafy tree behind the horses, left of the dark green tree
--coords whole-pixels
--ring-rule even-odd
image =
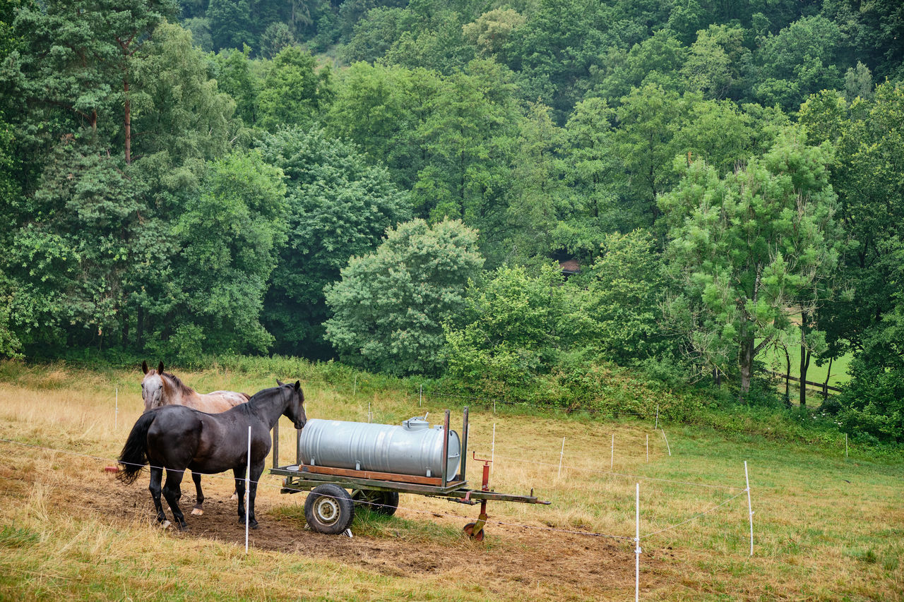
[[[273,336],[260,324],[268,279],[286,240],[283,174],[259,153],[209,166],[200,194],[174,224],[174,306],[152,347],[180,359],[201,353],[262,353]]]

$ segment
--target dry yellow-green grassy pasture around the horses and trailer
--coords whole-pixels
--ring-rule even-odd
[[[204,391],[301,378],[309,418],[366,421],[370,406],[393,424],[444,409],[419,408],[389,379],[287,368],[174,372]],[[246,556],[230,478],[204,477],[206,512],[180,533],[152,524],[146,475],[127,487],[104,472],[141,412],[140,376],[0,363],[0,599],[631,599],[638,483],[641,599],[904,599],[904,460],[502,409],[472,409],[471,449],[494,454],[494,489],[535,488],[551,505],[490,503],[481,544],[461,533],[475,508],[402,495],[394,517],[358,513],[349,539],[306,531],[304,494],[279,494],[270,475]],[[287,463],[287,419],[281,428]],[[473,484],[476,463],[468,473]]]

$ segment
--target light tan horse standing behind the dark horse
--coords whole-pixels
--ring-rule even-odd
[[[175,374],[164,372],[164,362],[160,362],[156,370],[148,368],[147,362],[141,362],[141,370],[145,372],[145,378],[141,381],[141,398],[145,400],[145,411],[162,406],[175,405],[186,406],[208,414],[219,414],[250,399],[245,393],[235,390],[214,390],[210,393],[199,393],[183,381],[180,381]],[[201,475],[193,472],[192,480],[197,493],[192,513],[201,515],[204,513],[202,509],[204,494],[201,491]],[[233,493],[232,499],[237,499],[237,494]]]

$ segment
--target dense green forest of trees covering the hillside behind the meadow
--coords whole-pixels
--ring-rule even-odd
[[[796,347],[904,441],[899,0],[8,0],[0,90],[0,356],[749,401]]]

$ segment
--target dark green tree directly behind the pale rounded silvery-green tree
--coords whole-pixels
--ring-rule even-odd
[[[287,245],[279,254],[265,306],[276,349],[332,355],[323,323],[324,287],[352,257],[370,253],[383,233],[411,217],[410,198],[384,167],[319,129],[286,128],[264,136],[261,151],[286,174]]]

